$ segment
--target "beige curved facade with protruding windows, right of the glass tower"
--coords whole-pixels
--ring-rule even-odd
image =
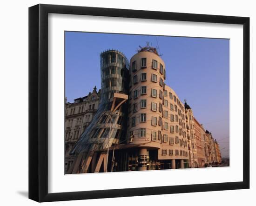
[[[184,105],[164,84],[165,72],[163,60],[155,53],[139,52],[131,58],[127,139],[138,147],[158,150],[157,159],[189,159]]]

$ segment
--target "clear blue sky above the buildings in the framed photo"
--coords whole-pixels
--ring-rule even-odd
[[[101,88],[100,53],[117,49],[130,59],[140,46],[159,46],[167,80],[195,118],[229,156],[229,40],[108,33],[65,33],[65,90],[73,102]],[[157,44],[158,42],[158,44]],[[89,74],[89,75],[88,75]]]

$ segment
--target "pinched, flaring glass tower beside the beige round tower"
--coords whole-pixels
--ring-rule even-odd
[[[111,111],[114,93],[128,94],[128,59],[117,50],[108,50],[100,54],[100,60],[100,105],[94,119],[81,134],[71,153],[97,151],[113,144],[119,144],[125,139],[128,102],[123,103],[115,112]],[[115,100],[114,104],[118,103],[118,100]],[[109,134],[110,127],[111,133]]]

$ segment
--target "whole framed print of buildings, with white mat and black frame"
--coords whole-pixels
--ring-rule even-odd
[[[249,18],[29,8],[29,198],[249,188]]]

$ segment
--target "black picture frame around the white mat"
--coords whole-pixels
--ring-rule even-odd
[[[243,25],[243,181],[48,193],[48,13]],[[39,4],[29,8],[29,199],[38,202],[249,188],[249,18]]]

